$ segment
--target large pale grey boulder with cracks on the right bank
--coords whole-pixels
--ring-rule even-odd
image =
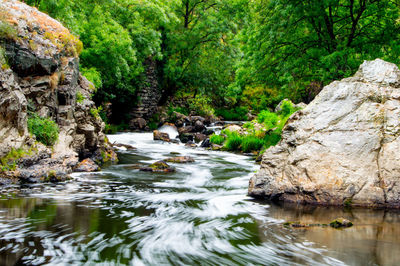
[[[286,124],[249,195],[291,202],[400,207],[400,70],[365,61]]]

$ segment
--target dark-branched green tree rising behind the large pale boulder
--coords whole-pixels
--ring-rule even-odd
[[[349,76],[366,59],[399,63],[393,1],[256,0],[249,14],[237,72],[242,86],[267,84],[293,94],[312,82]]]

